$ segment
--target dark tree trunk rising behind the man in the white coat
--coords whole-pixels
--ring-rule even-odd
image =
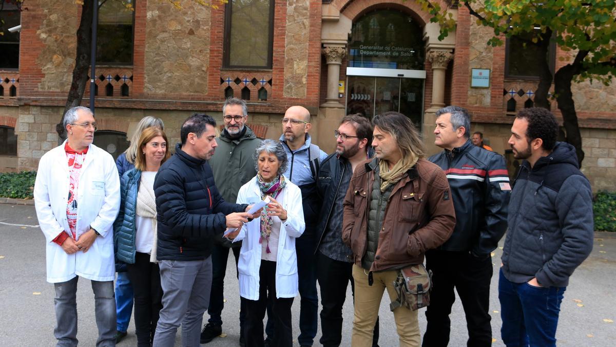
[[[77,54],[75,56],[73,80],[68,91],[67,104],[64,107],[64,112],[62,112],[62,118],[60,123],[55,125],[55,131],[60,136],[61,141],[67,138],[66,129],[62,124],[64,115],[71,107],[81,105],[81,99],[83,99],[83,93],[88,82],[87,75],[90,67],[90,49],[92,45],[92,15],[94,15],[92,5],[93,1],[85,0],[81,6],[81,21],[79,22],[79,28],[77,28]],[[94,91],[91,91],[91,93],[94,93]]]

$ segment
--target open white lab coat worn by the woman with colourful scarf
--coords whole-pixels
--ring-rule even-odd
[[[294,298],[298,295],[298,256],[295,253],[295,238],[302,236],[304,209],[302,208],[302,193],[298,186],[285,177],[286,186],[280,192],[283,194],[282,204],[286,210],[286,222],[280,225],[278,236],[278,252],[276,254],[276,298]],[[261,190],[254,177],[240,188],[237,195],[238,204],[254,204],[261,200]],[[274,217],[278,219],[278,217]],[[280,219],[278,219],[280,221]],[[261,217],[246,223],[238,236],[233,240],[243,240],[241,244],[238,272],[240,280],[240,296],[250,300],[259,299],[259,268],[261,267],[262,246]]]

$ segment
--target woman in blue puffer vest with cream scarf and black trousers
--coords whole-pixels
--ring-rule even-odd
[[[134,169],[122,176],[121,203],[114,224],[116,257],[125,262],[135,298],[137,345],[150,346],[158,313],[163,307],[163,289],[156,261],[156,199],[154,178],[171,155],[167,136],[157,127],[146,128],[137,142]]]

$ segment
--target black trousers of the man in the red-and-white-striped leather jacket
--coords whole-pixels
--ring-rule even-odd
[[[432,293],[426,310],[428,327],[424,347],[447,346],[451,330],[449,315],[458,291],[464,307],[468,346],[492,346],[490,326],[490,278],[492,258],[479,259],[468,252],[432,249],[426,253],[426,268],[432,270]]]

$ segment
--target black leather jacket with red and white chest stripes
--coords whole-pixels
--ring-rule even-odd
[[[439,249],[488,256],[507,228],[511,186],[505,158],[468,140],[428,160],[445,170],[456,211],[453,234]]]

